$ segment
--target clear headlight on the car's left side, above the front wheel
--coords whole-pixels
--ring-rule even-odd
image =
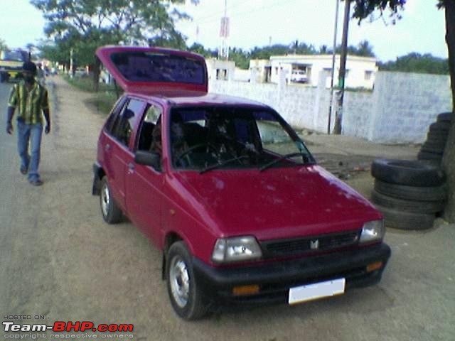
[[[212,260],[217,263],[249,261],[261,256],[261,248],[252,236],[217,239],[212,252]]]

